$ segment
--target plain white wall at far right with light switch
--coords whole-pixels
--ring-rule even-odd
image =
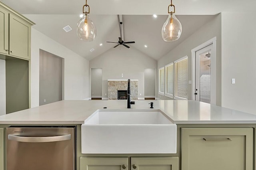
[[[222,13],[222,106],[252,114],[256,114],[255,15]]]

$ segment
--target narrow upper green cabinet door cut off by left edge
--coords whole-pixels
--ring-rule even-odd
[[[9,52],[9,20],[8,12],[0,6],[0,53]]]

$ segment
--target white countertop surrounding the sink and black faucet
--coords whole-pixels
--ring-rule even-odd
[[[137,100],[132,109],[162,110],[176,124],[256,123],[256,115],[190,100]],[[0,116],[0,124],[83,124],[98,109],[127,109],[126,100],[70,100]],[[131,110],[132,110],[131,109]]]

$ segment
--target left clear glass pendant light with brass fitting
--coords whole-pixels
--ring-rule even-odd
[[[84,12],[85,6],[88,6],[88,12]],[[88,15],[90,14],[90,6],[87,5],[87,0],[83,6],[83,14],[81,20],[77,23],[76,34],[80,40],[92,42],[96,37],[96,28]]]

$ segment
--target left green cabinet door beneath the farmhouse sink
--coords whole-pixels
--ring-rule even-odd
[[[80,157],[80,170],[128,170],[128,158]]]

